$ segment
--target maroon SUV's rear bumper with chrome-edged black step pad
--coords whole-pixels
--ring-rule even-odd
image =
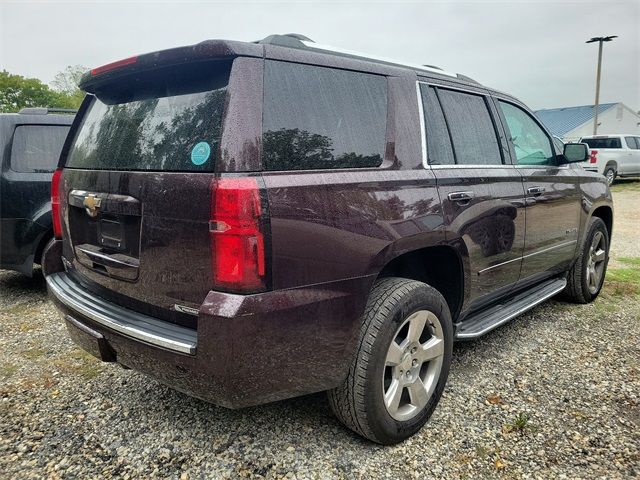
[[[341,383],[370,282],[247,296],[210,292],[196,331],[96,298],[65,272],[47,275],[51,297],[82,348],[229,408]]]

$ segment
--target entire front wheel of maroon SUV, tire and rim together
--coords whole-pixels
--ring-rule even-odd
[[[609,232],[598,217],[592,217],[580,256],[567,276],[565,296],[575,303],[593,301],[602,289],[609,262]]]

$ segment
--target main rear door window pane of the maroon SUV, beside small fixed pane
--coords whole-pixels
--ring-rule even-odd
[[[439,88],[453,153],[460,165],[502,164],[498,137],[482,95]]]

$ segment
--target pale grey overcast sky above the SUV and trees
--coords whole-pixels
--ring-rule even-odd
[[[592,104],[596,44],[601,103],[640,110],[640,0],[510,2],[58,2],[0,0],[0,69],[50,82],[212,38],[302,33],[318,43],[438,65],[530,107]]]

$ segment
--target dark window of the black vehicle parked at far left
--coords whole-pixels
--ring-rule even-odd
[[[66,125],[18,125],[11,144],[11,170],[53,172],[68,132]]]

